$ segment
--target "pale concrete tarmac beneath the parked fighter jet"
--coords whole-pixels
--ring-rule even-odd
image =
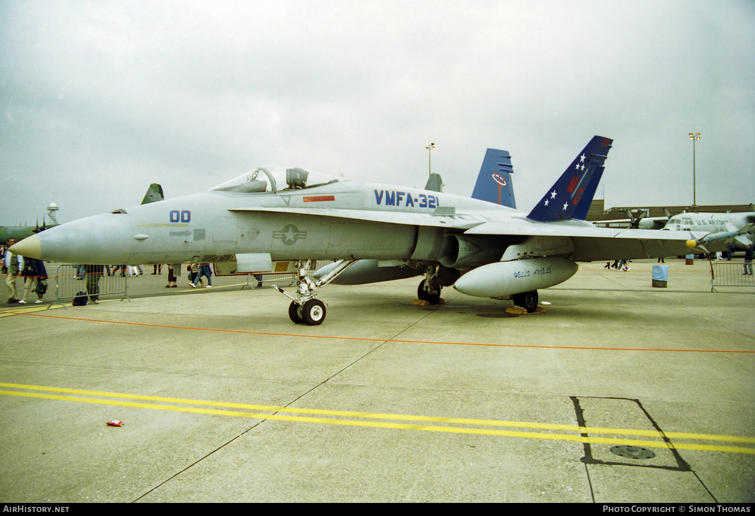
[[[655,263],[581,264],[531,315],[414,278],[324,287],[308,327],[151,267],[130,301],[5,305],[0,500],[755,502],[755,287]]]

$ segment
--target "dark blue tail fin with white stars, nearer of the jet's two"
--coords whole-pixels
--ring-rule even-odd
[[[610,138],[593,137],[527,218],[540,222],[572,218],[584,220],[598,188],[604,170],[603,163],[612,143]]]

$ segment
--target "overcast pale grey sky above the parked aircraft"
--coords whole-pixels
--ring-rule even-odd
[[[755,2],[0,2],[0,224],[263,164],[530,210],[593,135],[606,207],[755,201]]]

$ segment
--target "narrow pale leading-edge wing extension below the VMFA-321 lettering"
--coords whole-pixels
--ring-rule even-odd
[[[304,207],[240,207],[232,212],[277,212],[315,215],[317,217],[340,217],[342,219],[368,220],[390,224],[408,224],[411,226],[434,226],[439,228],[470,229],[485,222],[482,218],[468,214],[456,214],[452,207],[439,207],[433,213],[407,213],[381,210],[347,210],[340,208],[304,208]]]

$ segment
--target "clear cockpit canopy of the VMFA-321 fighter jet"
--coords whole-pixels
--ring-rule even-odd
[[[282,192],[337,183],[341,179],[331,174],[299,167],[270,165],[259,167],[233,180],[215,186],[222,192]]]

